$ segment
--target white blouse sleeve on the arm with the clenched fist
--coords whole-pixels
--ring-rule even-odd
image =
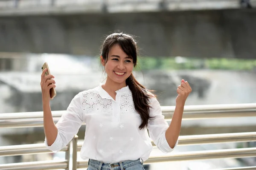
[[[174,150],[178,144],[178,140],[173,148],[171,148],[166,140],[166,130],[169,127],[168,123],[162,115],[160,103],[155,97],[151,97],[150,116],[154,116],[153,119],[148,121],[148,132],[150,138],[156,144],[157,148],[163,153],[169,153]]]

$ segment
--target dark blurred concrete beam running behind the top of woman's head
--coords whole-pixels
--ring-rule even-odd
[[[0,17],[0,51],[94,56],[115,30],[147,56],[256,56],[255,9]]]

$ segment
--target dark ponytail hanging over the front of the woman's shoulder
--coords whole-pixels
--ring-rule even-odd
[[[151,108],[149,105],[149,99],[152,97],[152,94],[135,79],[133,74],[131,74],[125,82],[131,90],[135,110],[140,114],[142,119],[142,123],[139,128],[143,129],[144,127],[147,127],[148,120],[153,118],[149,115]]]

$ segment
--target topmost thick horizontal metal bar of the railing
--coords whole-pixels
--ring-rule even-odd
[[[162,112],[166,120],[172,119],[174,106],[162,106]],[[52,111],[55,122],[66,111]],[[256,104],[239,105],[195,105],[185,106],[183,120],[185,119],[213,119],[227,117],[256,116]],[[18,127],[42,127],[43,112],[2,113],[0,128]]]

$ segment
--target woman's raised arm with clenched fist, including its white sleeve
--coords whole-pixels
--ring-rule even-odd
[[[184,80],[182,80],[181,86],[179,86],[178,89],[184,86],[184,83],[187,82],[184,82]],[[157,99],[155,97],[151,98],[150,116],[153,116],[154,119],[148,121],[148,132],[150,138],[154,141],[157,148],[161,150],[163,153],[172,152],[172,150],[178,143],[183,108],[185,105],[186,97],[188,96],[187,93],[182,92],[178,89],[178,96],[176,98],[176,108],[174,115],[172,116],[172,122],[170,125],[168,125],[168,123],[164,119],[164,116],[162,115],[161,111],[161,106]],[[191,92],[191,88],[188,91]],[[185,94],[187,96],[185,96]]]

